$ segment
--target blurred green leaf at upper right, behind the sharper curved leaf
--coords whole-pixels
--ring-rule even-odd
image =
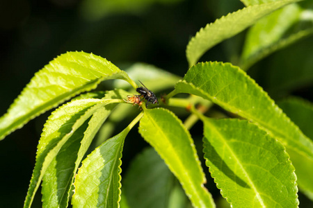
[[[308,20],[305,17],[307,12],[311,11],[293,3],[257,21],[247,34],[241,55],[241,67],[248,69],[274,51],[311,35],[312,24],[300,26]]]

